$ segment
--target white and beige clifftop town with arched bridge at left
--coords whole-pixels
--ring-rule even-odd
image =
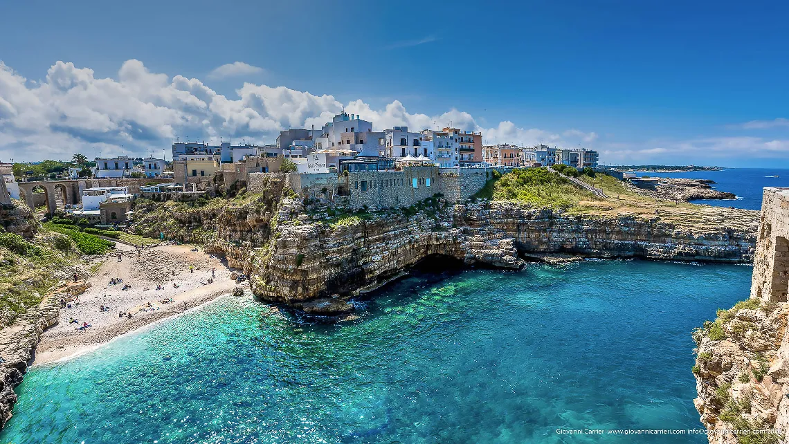
[[[89,161],[77,154],[73,162],[43,172],[0,163],[0,199],[23,200],[43,215],[61,212],[117,225],[132,215],[136,196],[193,200],[222,189],[254,192],[266,174],[286,173],[290,188],[305,199],[351,209],[408,207],[436,194],[466,200],[493,170],[566,166],[582,171],[596,169],[598,159],[596,151],[580,147],[487,145],[481,132],[451,127],[376,131],[372,121],[342,112],[320,129],[281,131],[275,144],[179,140],[170,160],[116,155]]]

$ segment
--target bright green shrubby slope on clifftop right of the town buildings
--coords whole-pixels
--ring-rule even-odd
[[[582,200],[595,200],[592,193],[544,168],[512,170],[495,181],[492,196],[495,200],[564,209],[574,207]]]

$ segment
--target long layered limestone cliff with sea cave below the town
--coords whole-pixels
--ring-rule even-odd
[[[504,268],[557,253],[748,263],[757,225],[753,211],[698,212],[680,223],[662,215],[612,217],[510,202],[451,205],[436,198],[417,207],[338,214],[328,207],[306,211],[276,177],[267,186],[263,194],[203,207],[145,204],[137,208],[143,215],[135,228],[225,254],[263,300],[330,314],[350,310],[350,297],[430,256]]]

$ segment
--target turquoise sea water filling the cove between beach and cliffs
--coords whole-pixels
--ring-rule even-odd
[[[298,323],[226,298],[34,367],[0,442],[706,442],[690,330],[750,267],[533,264],[406,278],[361,318]]]

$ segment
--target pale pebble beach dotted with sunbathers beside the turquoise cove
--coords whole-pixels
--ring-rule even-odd
[[[60,310],[58,324],[44,332],[36,348],[34,365],[95,349],[129,331],[230,293],[236,286],[230,279],[231,271],[219,259],[202,250],[193,252],[190,246],[145,248],[140,256],[129,245],[117,244],[117,248],[122,261],[113,257],[104,262],[88,279],[92,286],[78,303],[73,300]],[[215,268],[215,277],[209,284],[211,268]],[[112,278],[122,282],[111,285]],[[125,285],[131,287],[123,289]],[[161,289],[157,290],[157,285]],[[110,309],[103,311],[101,306]],[[131,318],[119,316],[122,312],[130,312]],[[70,319],[77,319],[77,323]],[[90,326],[80,330],[83,323]]]

